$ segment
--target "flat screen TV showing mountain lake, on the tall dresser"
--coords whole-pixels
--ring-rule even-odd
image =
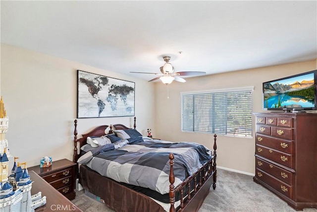
[[[316,84],[317,70],[263,82],[264,110],[317,110]]]

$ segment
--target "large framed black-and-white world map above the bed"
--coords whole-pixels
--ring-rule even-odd
[[[135,82],[77,70],[77,118],[134,116]]]

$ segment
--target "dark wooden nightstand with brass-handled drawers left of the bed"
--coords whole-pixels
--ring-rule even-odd
[[[38,165],[29,167],[28,170],[37,173],[69,200],[75,199],[76,163],[61,159],[53,161],[52,166],[48,168],[40,168],[40,165]]]

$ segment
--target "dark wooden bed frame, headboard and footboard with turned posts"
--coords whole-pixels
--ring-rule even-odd
[[[116,130],[122,130],[122,129],[131,129],[127,128],[126,126],[122,124],[114,124],[114,125],[102,125],[99,127],[96,127],[92,131],[90,131],[87,134],[83,134],[82,138],[77,139],[77,120],[74,121],[74,149],[73,149],[73,162],[77,162],[78,159],[78,150],[77,150],[77,143],[79,142],[80,146],[83,146],[87,143],[87,137],[92,136],[103,136],[105,134],[105,130],[110,127],[110,131],[108,134],[113,133],[112,128],[114,127]],[[136,117],[134,117],[134,128],[136,129]],[[213,143],[213,153],[211,156],[211,160],[209,160],[207,163],[205,163],[197,172],[195,172],[193,175],[187,177],[180,185],[177,187],[174,187],[175,182],[175,176],[173,172],[173,159],[174,155],[172,153],[169,154],[169,164],[170,164],[170,174],[169,174],[169,203],[170,203],[170,209],[169,212],[197,212],[200,207],[202,206],[205,198],[209,194],[210,187],[212,184],[213,190],[216,188],[216,178],[217,178],[217,169],[216,169],[216,134],[214,134],[214,143]],[[80,151],[80,149],[79,149]],[[106,178],[106,177],[104,177]],[[213,180],[211,180],[211,178]],[[109,178],[107,178],[109,179]],[[114,183],[116,183],[114,181]],[[183,188],[187,187],[190,188],[194,184],[194,189],[190,191],[190,189],[187,189],[186,194],[183,194]],[[119,184],[118,184],[119,185]],[[129,188],[126,188],[128,190],[132,190]],[[91,191],[90,191],[91,192]],[[180,206],[175,209],[175,193],[180,192]],[[93,192],[92,192],[93,193]],[[141,194],[141,193],[140,193]],[[144,194],[141,194],[144,195]],[[146,196],[146,195],[144,195]],[[146,196],[147,197],[147,196]],[[120,201],[119,199],[118,201]],[[148,206],[148,209],[151,209],[152,206]],[[116,210],[115,207],[111,207],[112,209]],[[117,210],[116,210],[117,211]]]

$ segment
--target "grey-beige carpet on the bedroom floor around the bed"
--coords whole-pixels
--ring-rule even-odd
[[[217,186],[204,201],[199,212],[295,212],[284,201],[253,182],[252,176],[218,169]],[[72,201],[84,212],[114,212],[105,204],[77,192]],[[306,208],[304,212],[317,212]]]

